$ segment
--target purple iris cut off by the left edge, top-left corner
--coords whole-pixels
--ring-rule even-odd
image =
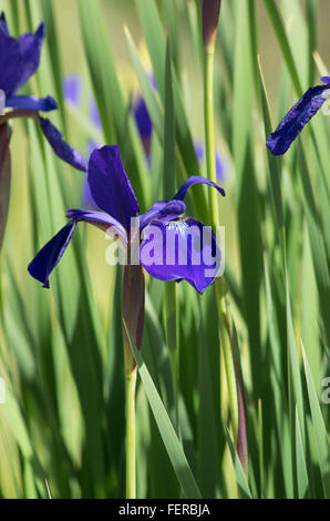
[[[6,108],[14,109],[2,116],[2,122],[12,118],[34,118],[55,154],[75,168],[85,171],[85,159],[62,139],[62,134],[39,112],[49,112],[58,108],[51,96],[35,98],[18,95],[18,91],[34,74],[40,63],[44,40],[44,22],[35,33],[27,32],[19,38],[10,35],[4,13],[0,17],[0,89],[6,95]],[[1,123],[1,121],[0,121]]]

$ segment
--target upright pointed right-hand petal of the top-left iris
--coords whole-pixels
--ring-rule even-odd
[[[41,22],[35,33],[27,32],[18,38],[18,44],[22,57],[22,72],[14,86],[17,92],[23,86],[32,74],[37,71],[40,63],[42,43],[44,39],[44,22]]]

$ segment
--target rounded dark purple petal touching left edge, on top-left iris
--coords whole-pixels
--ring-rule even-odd
[[[14,38],[0,30],[0,89],[12,94],[23,71],[20,45]]]

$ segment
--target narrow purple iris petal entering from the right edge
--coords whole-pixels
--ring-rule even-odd
[[[329,94],[330,76],[323,76],[321,81],[324,85],[309,89],[269,135],[267,146],[275,155],[285,154],[303,126],[321,109]]]

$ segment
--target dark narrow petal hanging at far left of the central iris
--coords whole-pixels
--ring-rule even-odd
[[[49,276],[63,257],[75,228],[75,222],[68,223],[29,264],[30,275],[49,288]]]

